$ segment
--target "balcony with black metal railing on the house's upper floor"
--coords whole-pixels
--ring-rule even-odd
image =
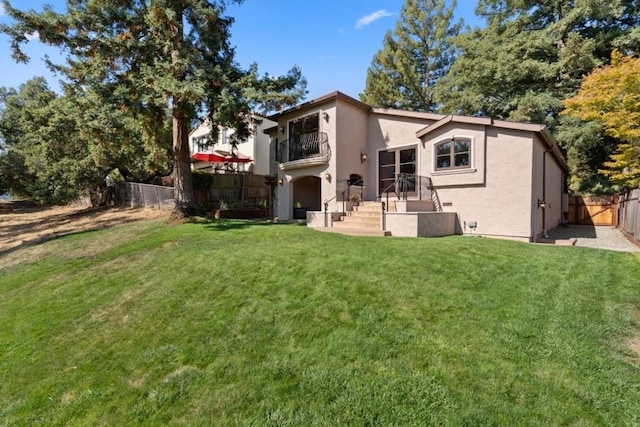
[[[281,170],[326,165],[330,158],[329,138],[324,132],[295,135],[278,144]]]

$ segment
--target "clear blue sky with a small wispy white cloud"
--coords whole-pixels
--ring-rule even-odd
[[[18,9],[42,10],[50,4],[64,11],[62,0],[13,0]],[[245,0],[231,5],[227,15],[235,18],[231,28],[236,60],[243,67],[258,63],[259,71],[271,75],[286,73],[293,65],[307,78],[307,100],[339,90],[358,97],[365,88],[367,68],[382,47],[388,30],[393,30],[404,0]],[[458,0],[456,15],[466,24],[479,25],[474,16],[475,0]],[[0,21],[9,22],[0,9]],[[0,35],[0,86],[18,87],[35,76],[44,76],[58,89],[58,78],[41,58],[58,57],[58,50],[37,40],[25,48],[27,64],[11,58],[9,40]]]

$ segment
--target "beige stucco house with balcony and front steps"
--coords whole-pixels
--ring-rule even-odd
[[[545,126],[373,108],[340,92],[269,119],[281,220],[522,241],[563,221],[568,168]]]

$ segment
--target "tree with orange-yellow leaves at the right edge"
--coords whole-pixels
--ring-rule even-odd
[[[616,183],[640,184],[640,58],[614,50],[611,65],[589,73],[563,114],[600,123],[620,141],[600,172]]]

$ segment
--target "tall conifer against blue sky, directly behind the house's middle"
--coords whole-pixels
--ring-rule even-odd
[[[437,110],[434,85],[449,69],[451,41],[462,25],[453,23],[455,6],[455,0],[449,6],[445,0],[406,0],[367,71],[360,100],[377,107]]]

